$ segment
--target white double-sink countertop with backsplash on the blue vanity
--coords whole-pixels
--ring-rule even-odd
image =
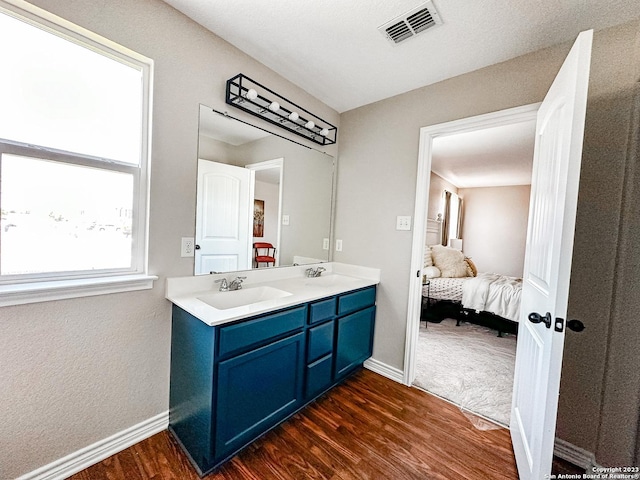
[[[319,266],[326,269],[320,277],[306,277],[306,269]],[[211,294],[218,294],[220,284],[215,283],[216,280],[226,278],[231,281],[237,276],[247,277],[242,283],[243,290],[271,287],[282,290],[287,295],[226,309],[214,308],[200,299],[211,296]],[[378,283],[380,283],[379,269],[328,262],[295,267],[263,268],[229,274],[167,278],[165,297],[207,325],[214,326]],[[234,293],[219,292],[219,295],[233,295]]]

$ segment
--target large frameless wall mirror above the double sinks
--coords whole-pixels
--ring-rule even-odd
[[[333,175],[330,155],[201,105],[195,274],[329,261]]]

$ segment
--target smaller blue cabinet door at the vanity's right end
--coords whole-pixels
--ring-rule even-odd
[[[369,307],[338,319],[336,379],[371,356],[376,307]]]

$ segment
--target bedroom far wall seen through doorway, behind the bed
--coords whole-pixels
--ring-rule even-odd
[[[522,277],[530,185],[461,188],[465,255],[480,272]]]

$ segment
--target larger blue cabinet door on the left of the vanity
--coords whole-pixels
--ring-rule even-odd
[[[304,333],[220,362],[215,457],[237,451],[302,402]]]

